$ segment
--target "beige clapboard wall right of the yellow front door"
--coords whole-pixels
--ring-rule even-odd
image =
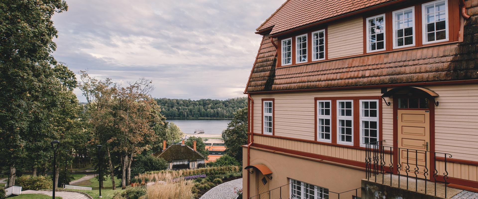
[[[435,98],[440,102],[435,106],[435,150],[478,161],[478,84],[427,88],[440,95]]]

